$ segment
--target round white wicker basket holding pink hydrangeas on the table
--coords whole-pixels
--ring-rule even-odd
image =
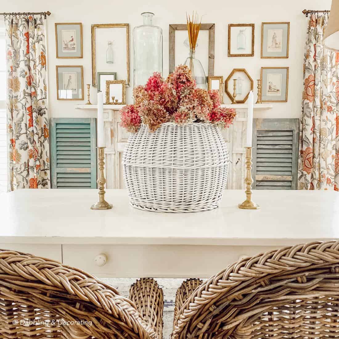
[[[154,212],[199,212],[218,207],[229,155],[215,125],[141,125],[128,139],[123,172],[133,207]]]

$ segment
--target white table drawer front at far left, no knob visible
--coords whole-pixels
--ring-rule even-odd
[[[62,245],[52,244],[1,244],[2,250],[12,250],[62,262]]]

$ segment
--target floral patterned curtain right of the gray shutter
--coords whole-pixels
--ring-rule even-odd
[[[304,55],[298,189],[339,190],[339,53],[321,45],[327,15],[312,15]]]

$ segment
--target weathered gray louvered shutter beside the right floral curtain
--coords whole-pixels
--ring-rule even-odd
[[[296,190],[299,119],[254,119],[253,188]]]

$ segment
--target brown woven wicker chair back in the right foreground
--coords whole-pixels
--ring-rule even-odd
[[[339,241],[229,265],[186,299],[172,339],[338,338]]]

